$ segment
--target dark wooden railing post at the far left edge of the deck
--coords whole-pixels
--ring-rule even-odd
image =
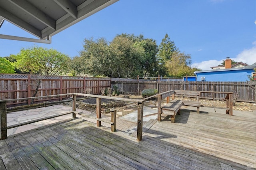
[[[6,102],[0,102],[0,131],[1,140],[7,138],[7,109]]]

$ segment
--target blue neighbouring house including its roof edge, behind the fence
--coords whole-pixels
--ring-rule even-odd
[[[256,63],[239,68],[195,71],[197,81],[248,81],[255,73]]]

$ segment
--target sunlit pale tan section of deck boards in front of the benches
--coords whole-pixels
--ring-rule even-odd
[[[255,127],[250,127],[255,123],[255,117],[242,120],[241,117],[220,113],[196,115],[182,109],[181,112],[181,115],[177,115],[176,125],[164,121],[156,123],[146,134],[155,138],[161,136],[168,143],[240,164],[256,162],[256,132]],[[173,130],[174,128],[178,130]],[[160,132],[152,134],[151,130]]]

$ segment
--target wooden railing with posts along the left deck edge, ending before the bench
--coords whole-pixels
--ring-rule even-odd
[[[142,140],[142,126],[143,126],[143,106],[144,106],[144,100],[143,99],[126,99],[126,98],[120,98],[120,97],[109,97],[109,96],[101,96],[101,95],[90,95],[90,94],[84,94],[84,93],[68,93],[68,94],[62,94],[62,95],[50,95],[50,96],[43,96],[43,97],[60,97],[60,96],[71,96],[72,95],[72,111],[62,113],[61,115],[54,115],[50,117],[44,117],[33,121],[28,121],[25,123],[19,123],[16,125],[7,126],[7,108],[6,103],[8,101],[15,101],[17,99],[7,99],[7,100],[0,100],[0,132],[1,136],[0,139],[6,139],[7,138],[7,130],[10,128],[20,127],[24,125],[28,125],[31,123],[36,123],[39,121],[52,119],[54,117],[59,117],[63,115],[67,115],[72,113],[72,117],[76,118],[76,114],[78,112],[76,111],[76,97],[79,96],[86,96],[86,97],[95,97],[96,98],[96,119],[97,119],[97,127],[101,126],[101,122],[104,121],[104,119],[101,117],[101,99],[112,99],[112,100],[119,100],[119,101],[128,101],[128,102],[134,102],[138,105],[138,130],[137,130],[137,140]],[[27,98],[21,98],[18,100],[28,100],[28,99],[37,99],[42,97],[27,97]],[[111,111],[111,130],[114,132],[116,130],[116,111]]]

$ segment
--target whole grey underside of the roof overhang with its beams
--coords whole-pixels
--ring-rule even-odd
[[[7,20],[41,40],[49,40],[49,37],[117,1],[0,0],[0,28],[3,21]],[[6,38],[6,35],[2,34],[0,38],[16,39],[15,36]],[[30,41],[29,38],[25,39]]]

